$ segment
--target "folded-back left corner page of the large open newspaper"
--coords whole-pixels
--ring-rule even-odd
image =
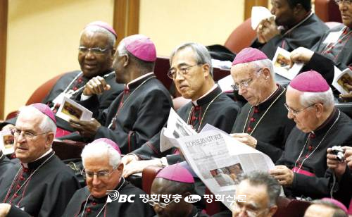
[[[177,115],[174,109],[170,109],[168,128],[161,130],[160,151],[166,151],[172,147],[177,147],[177,138],[189,135],[196,135],[196,130],[193,130],[180,116]]]

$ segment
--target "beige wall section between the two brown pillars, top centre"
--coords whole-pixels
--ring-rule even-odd
[[[182,42],[224,44],[244,20],[244,0],[141,0],[139,33],[169,56]]]

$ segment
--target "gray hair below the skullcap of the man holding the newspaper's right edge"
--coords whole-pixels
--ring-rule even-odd
[[[288,89],[293,88],[289,85]],[[299,101],[303,107],[321,103],[325,109],[329,109],[334,106],[334,94],[331,88],[325,92],[302,92]]]

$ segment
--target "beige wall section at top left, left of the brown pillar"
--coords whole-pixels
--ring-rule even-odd
[[[49,78],[79,69],[80,31],[93,20],[112,24],[113,0],[8,1],[5,114]]]

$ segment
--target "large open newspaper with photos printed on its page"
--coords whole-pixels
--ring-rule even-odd
[[[181,119],[175,115],[177,116],[175,111],[170,111],[169,119],[170,117],[174,119],[174,123],[175,119]],[[177,138],[171,129],[177,130],[177,133],[184,133],[179,134],[180,137]],[[178,147],[194,173],[215,195],[224,195],[224,198],[234,197],[239,174],[269,171],[275,167],[266,154],[235,140],[226,132],[211,125],[207,124],[199,134],[192,134],[187,130],[189,126],[183,120],[178,127],[168,122],[168,128],[161,134],[161,141]],[[223,200],[222,203],[230,209],[229,200]]]

